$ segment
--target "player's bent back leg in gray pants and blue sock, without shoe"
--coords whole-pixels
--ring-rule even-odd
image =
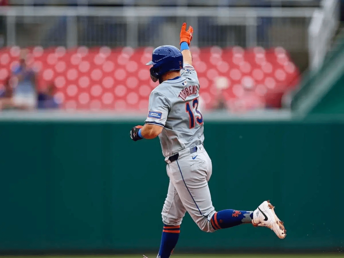
[[[195,160],[190,155],[169,164],[168,173],[184,207],[198,227],[205,232],[214,232],[220,228],[251,223],[252,211],[215,211],[208,187],[211,160],[205,151],[197,151],[197,155]]]

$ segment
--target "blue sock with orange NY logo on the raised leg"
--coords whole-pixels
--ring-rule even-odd
[[[234,227],[243,223],[251,223],[253,218],[252,211],[236,211],[225,209],[216,212],[210,220],[214,229]]]

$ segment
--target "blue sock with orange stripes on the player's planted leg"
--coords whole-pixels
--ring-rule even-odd
[[[178,242],[180,226],[169,226],[164,224],[162,230],[161,244],[157,258],[169,258],[173,248]]]

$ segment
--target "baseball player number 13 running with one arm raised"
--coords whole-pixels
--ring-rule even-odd
[[[205,232],[251,223],[268,227],[279,238],[286,237],[283,222],[274,207],[264,201],[255,211],[226,209],[216,212],[208,180],[212,162],[203,141],[203,116],[198,110],[200,84],[192,66],[189,49],[193,29],[186,23],[180,32],[180,50],[174,46],[157,47],[152,54],[151,79],[159,85],[149,96],[149,111],[144,126],[130,131],[134,141],[160,138],[170,178],[162,209],[164,223],[158,258],[168,258],[177,244],[180,225],[186,212]]]

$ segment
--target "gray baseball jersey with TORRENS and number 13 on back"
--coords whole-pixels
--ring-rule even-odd
[[[165,80],[149,96],[146,123],[162,126],[159,135],[164,157],[203,143],[203,117],[197,109],[200,84],[193,66]]]

